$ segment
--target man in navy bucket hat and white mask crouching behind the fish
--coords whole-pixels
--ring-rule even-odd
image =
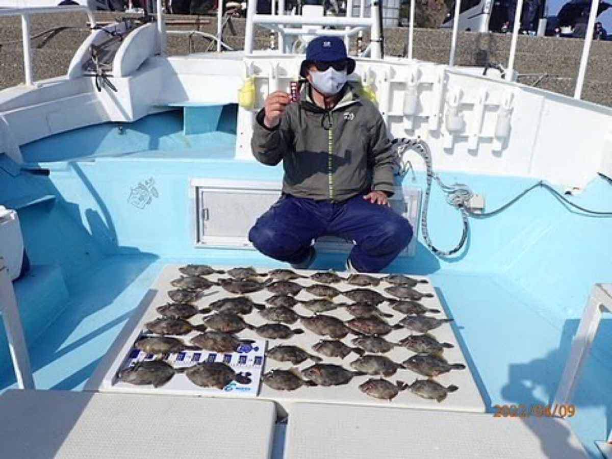
[[[393,212],[393,153],[383,117],[346,77],[355,61],[342,40],[308,44],[300,102],[277,91],[253,127],[256,159],[285,168],[281,198],[258,218],[248,239],[264,255],[307,269],[313,241],[333,235],[354,242],[350,271],[378,272],[408,245],[412,228]]]

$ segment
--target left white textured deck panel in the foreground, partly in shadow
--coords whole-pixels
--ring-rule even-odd
[[[0,457],[268,458],[269,401],[9,390],[0,396]]]

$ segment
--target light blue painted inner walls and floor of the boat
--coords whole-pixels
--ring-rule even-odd
[[[29,165],[47,169],[48,176],[0,171],[9,201],[25,203],[20,220],[32,271],[15,289],[37,388],[82,390],[167,264],[283,267],[253,250],[194,247],[191,179],[280,183],[282,170],[233,159],[231,132],[217,131],[206,141],[190,136],[186,144],[181,123],[169,112],[123,131],[107,124],[67,132],[23,147]],[[534,183],[528,177],[441,177],[470,184],[486,196],[488,209]],[[158,195],[142,209],[134,207],[130,190],[151,178]],[[423,184],[424,174],[417,171],[403,185]],[[594,179],[573,199],[606,209],[611,188]],[[33,194],[21,196],[26,189]],[[431,200],[431,237],[451,247],[460,218],[441,204],[438,190]],[[601,245],[606,228],[602,220],[570,212],[536,191],[494,218],[473,220],[468,248],[457,258],[433,256],[419,235],[416,254],[398,258],[385,271],[431,279],[455,320],[453,330],[488,411],[494,405],[548,405],[591,286],[612,269],[608,248]],[[320,253],[312,269],[341,272],[345,259],[346,253]],[[569,419],[592,457],[599,455],[594,442],[606,438],[612,424],[612,396],[605,390],[612,380],[612,349],[605,339],[611,332],[612,321],[604,319],[573,399],[577,414]],[[7,352],[1,362],[0,390],[15,387]],[[277,444],[283,444],[284,431],[277,426]]]

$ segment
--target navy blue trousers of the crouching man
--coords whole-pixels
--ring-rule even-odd
[[[372,204],[364,195],[342,203],[283,195],[258,218],[248,240],[264,255],[300,263],[313,239],[339,236],[355,245],[349,255],[360,272],[378,272],[412,239],[412,226],[387,206]]]

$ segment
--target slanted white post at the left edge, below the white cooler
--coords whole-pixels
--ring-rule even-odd
[[[0,312],[4,329],[9,341],[10,357],[13,360],[15,376],[20,389],[35,389],[32,368],[28,356],[28,346],[21,327],[19,308],[9,270],[2,265],[0,258]]]

